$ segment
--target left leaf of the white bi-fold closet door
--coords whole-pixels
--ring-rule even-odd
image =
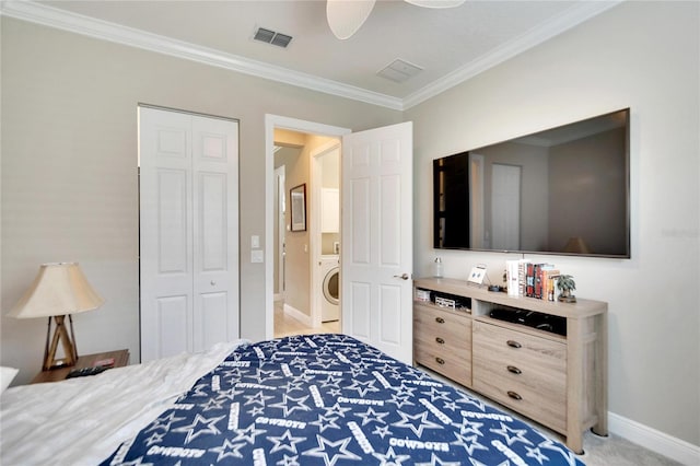
[[[191,351],[189,117],[140,109],[141,361]]]

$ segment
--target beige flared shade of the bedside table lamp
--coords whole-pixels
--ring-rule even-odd
[[[34,318],[77,314],[93,311],[103,303],[78,263],[43,264],[30,289],[8,315]]]

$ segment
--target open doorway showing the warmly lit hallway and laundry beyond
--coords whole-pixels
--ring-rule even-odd
[[[340,140],[313,128],[275,127],[271,142],[276,251],[268,257],[272,258],[272,337],[338,333],[339,315],[329,317],[328,311],[339,311],[339,301],[326,303],[324,290],[326,283],[329,290],[336,283],[339,298]],[[332,172],[335,176],[329,175]],[[306,225],[292,231],[289,193],[300,186],[306,197]],[[329,267],[330,261],[335,267]],[[325,280],[334,269],[335,280]]]

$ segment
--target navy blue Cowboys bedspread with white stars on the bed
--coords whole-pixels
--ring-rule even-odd
[[[511,416],[342,335],[242,345],[103,465],[580,465]]]

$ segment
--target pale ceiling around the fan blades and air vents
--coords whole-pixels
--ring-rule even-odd
[[[323,0],[3,1],[2,14],[406,109],[617,3],[380,0],[346,40],[330,32]],[[257,27],[293,39],[287,48],[253,40]],[[400,83],[377,75],[397,58],[422,70]]]

